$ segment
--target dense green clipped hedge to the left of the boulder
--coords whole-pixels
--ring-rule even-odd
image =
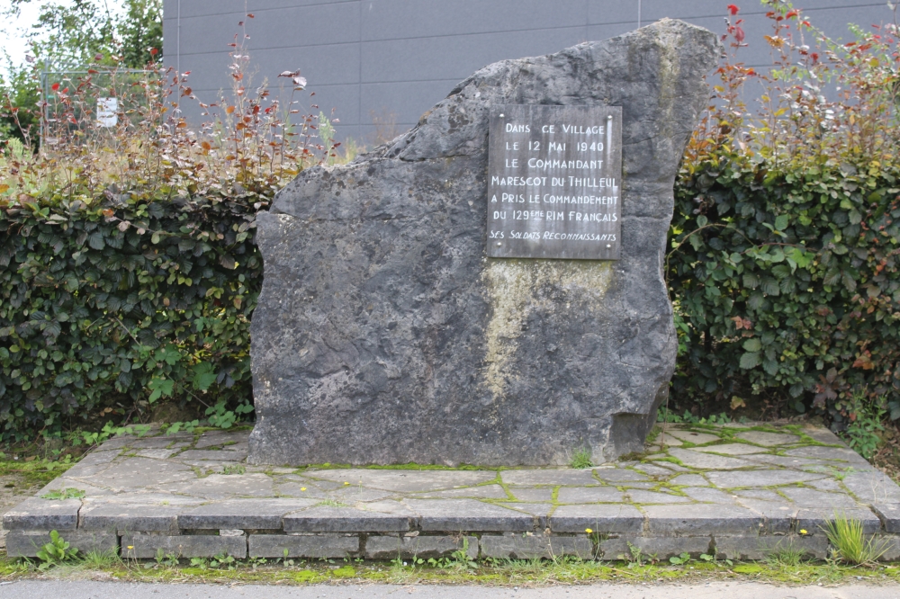
[[[159,398],[246,404],[256,209],[46,200],[0,204],[0,440]]]

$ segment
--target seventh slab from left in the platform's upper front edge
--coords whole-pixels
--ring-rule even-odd
[[[738,505],[644,505],[648,532],[653,536],[758,534],[762,518]]]

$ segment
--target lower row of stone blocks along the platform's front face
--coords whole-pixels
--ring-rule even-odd
[[[109,531],[68,531],[60,536],[82,552],[102,551],[124,559],[213,558],[228,554],[236,559],[409,559],[447,558],[460,551],[469,559],[552,559],[573,556],[581,559],[669,559],[689,553],[716,559],[765,559],[772,551],[793,547],[809,557],[825,559],[829,543],[824,535],[698,535],[644,536],[588,534],[536,535],[527,533],[490,534],[369,534],[220,531],[220,534],[163,534]],[[887,547],[884,561],[900,559],[900,535],[879,535]],[[47,531],[9,531],[6,551],[10,558],[34,558],[49,542]]]

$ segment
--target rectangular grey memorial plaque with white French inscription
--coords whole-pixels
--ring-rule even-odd
[[[500,105],[488,140],[488,255],[617,260],[622,107]]]

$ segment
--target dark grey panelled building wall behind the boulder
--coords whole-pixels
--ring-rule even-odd
[[[770,31],[758,0],[165,0],[166,65],[191,71],[204,102],[229,88],[228,44],[246,13],[253,83],[301,69],[323,112],[335,109],[341,137],[371,142],[373,117],[409,129],[422,112],[476,69],[503,58],[548,54],[603,40],[662,17],[725,31],[728,4],[738,4],[751,45],[748,65],[770,64],[762,35]],[[795,3],[832,37],[851,38],[854,22],[891,22],[884,0]],[[185,113],[198,119],[192,107]],[[384,133],[385,127],[382,128]]]

